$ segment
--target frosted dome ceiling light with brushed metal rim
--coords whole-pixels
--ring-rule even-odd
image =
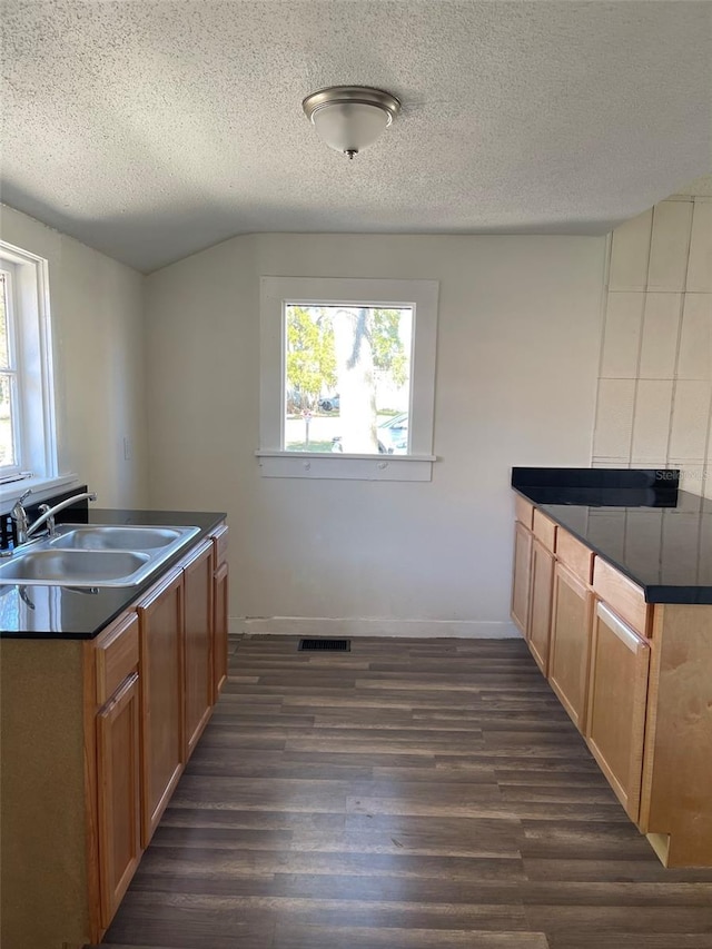
[[[395,96],[370,86],[329,86],[301,107],[319,138],[349,158],[373,145],[400,111]]]

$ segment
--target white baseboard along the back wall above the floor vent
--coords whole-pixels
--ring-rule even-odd
[[[278,636],[400,636],[406,639],[520,639],[511,622],[478,620],[362,620],[325,616],[230,617],[230,634]]]

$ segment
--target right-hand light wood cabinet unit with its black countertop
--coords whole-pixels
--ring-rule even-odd
[[[512,616],[669,867],[712,866],[712,502],[669,471],[514,468]]]

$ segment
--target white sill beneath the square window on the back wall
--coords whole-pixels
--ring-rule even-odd
[[[263,477],[349,481],[432,481],[435,455],[347,455],[324,452],[255,452]]]

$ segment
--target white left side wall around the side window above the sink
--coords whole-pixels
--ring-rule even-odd
[[[4,206],[0,237],[49,260],[60,472],[102,507],[145,506],[142,275]]]

